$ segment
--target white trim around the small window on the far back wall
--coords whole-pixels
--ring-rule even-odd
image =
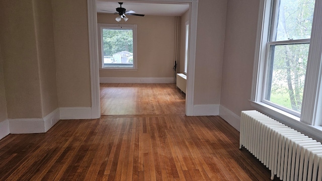
[[[137,25],[130,24],[104,24],[98,23],[98,44],[99,44],[99,66],[100,70],[137,70]],[[133,30],[133,67],[103,67],[103,52],[102,52],[102,30],[103,28],[127,28]]]

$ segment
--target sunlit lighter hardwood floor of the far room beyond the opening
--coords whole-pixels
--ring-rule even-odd
[[[184,114],[174,83],[101,83],[101,115]]]

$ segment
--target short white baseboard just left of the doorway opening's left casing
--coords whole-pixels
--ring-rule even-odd
[[[91,107],[59,108],[60,119],[93,119]]]

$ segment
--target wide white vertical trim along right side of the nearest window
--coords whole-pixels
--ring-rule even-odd
[[[314,16],[300,121],[321,126],[322,120],[322,1],[315,1]]]

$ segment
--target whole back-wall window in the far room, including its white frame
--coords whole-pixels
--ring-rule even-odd
[[[98,24],[100,67],[136,68],[136,25]]]

